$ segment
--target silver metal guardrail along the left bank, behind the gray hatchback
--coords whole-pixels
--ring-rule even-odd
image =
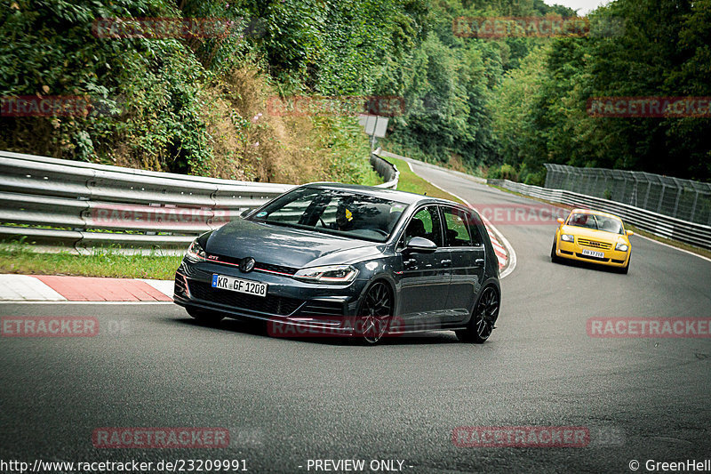
[[[379,161],[387,162],[374,165],[387,180],[381,187],[395,188],[399,173]],[[196,236],[292,188],[0,151],[0,240],[181,253]]]

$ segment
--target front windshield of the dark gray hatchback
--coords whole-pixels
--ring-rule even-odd
[[[279,197],[251,221],[385,242],[406,204],[348,189],[302,188]]]

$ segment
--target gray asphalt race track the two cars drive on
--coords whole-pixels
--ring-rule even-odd
[[[415,171],[475,206],[534,204]],[[567,473],[711,458],[711,340],[601,339],[586,329],[590,317],[711,317],[711,262],[632,237],[625,276],[551,263],[553,224],[497,227],[517,266],[483,345],[438,332],[377,347],[279,339],[236,321],[200,325],[163,303],[2,304],[3,316],[91,316],[101,329],[0,338],[0,459],[244,459],[252,472],[363,459],[366,468],[401,460],[404,472]],[[590,440],[461,447],[452,443],[459,426],[585,427]],[[224,427],[231,440],[99,449],[98,427]]]

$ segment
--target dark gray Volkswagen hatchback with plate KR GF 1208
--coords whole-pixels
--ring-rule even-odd
[[[294,188],[198,237],[175,275],[192,317],[260,319],[270,333],[486,341],[499,263],[477,213],[444,199],[336,183]]]

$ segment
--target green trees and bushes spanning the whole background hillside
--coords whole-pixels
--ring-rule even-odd
[[[542,0],[5,0],[0,97],[88,97],[104,113],[2,116],[0,148],[178,173],[367,181],[356,117],[259,116],[268,94],[383,95],[405,104],[385,144],[413,157],[533,183],[548,162],[711,179],[708,118],[586,109],[598,96],[711,95],[711,0],[614,0],[584,37],[452,28],[459,17],[574,14]],[[212,37],[92,35],[99,18],[151,17],[230,26]],[[616,22],[623,28],[600,29]],[[316,147],[310,155],[324,163],[304,165]],[[302,165],[311,171],[280,170]]]

